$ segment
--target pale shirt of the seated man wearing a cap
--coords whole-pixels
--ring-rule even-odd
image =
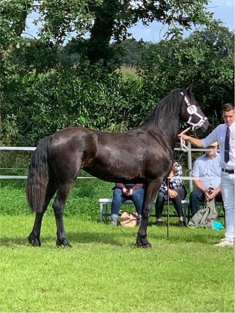
[[[216,189],[220,185],[221,168],[219,166],[220,155],[219,153],[212,159],[206,156],[206,153],[195,160],[192,167],[192,176],[204,177],[200,180],[203,187],[208,189],[212,187]]]

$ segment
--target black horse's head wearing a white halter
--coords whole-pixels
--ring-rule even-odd
[[[182,90],[180,94],[182,95],[183,103],[181,118],[187,121],[193,129],[201,128],[203,131],[206,131],[209,127],[209,122],[193,97],[192,85]]]

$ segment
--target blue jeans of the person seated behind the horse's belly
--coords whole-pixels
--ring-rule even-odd
[[[132,200],[134,202],[136,212],[138,213],[139,217],[141,217],[141,210],[144,198],[144,189],[138,188],[133,191],[132,196],[126,196],[122,192],[121,189],[116,188],[113,191],[113,201],[111,205],[111,217],[117,218],[119,211],[121,209],[121,205],[126,200]]]

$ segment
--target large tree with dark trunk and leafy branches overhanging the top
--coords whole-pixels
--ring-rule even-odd
[[[207,0],[2,0],[4,17],[20,17],[15,34],[24,29],[26,14],[40,13],[40,38],[50,45],[62,44],[76,32],[84,54],[94,63],[100,59],[106,65],[113,57],[110,40],[121,41],[130,34],[128,29],[138,21],[152,21],[169,26],[169,34],[181,33],[196,25],[209,25],[212,13],[205,9]],[[17,13],[15,9],[17,8]],[[8,25],[12,28],[12,25]],[[4,31],[5,33],[5,31]],[[11,35],[10,35],[11,36]],[[88,39],[87,39],[88,37]],[[4,39],[5,41],[5,39]],[[7,40],[8,41],[8,40]]]

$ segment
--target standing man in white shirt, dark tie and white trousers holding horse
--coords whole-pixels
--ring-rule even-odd
[[[178,137],[189,141],[196,147],[205,148],[214,141],[218,142],[220,150],[221,183],[220,189],[225,211],[225,237],[215,246],[234,246],[234,158],[235,158],[235,122],[234,107],[226,103],[222,107],[224,124],[218,125],[204,139],[196,139],[179,134]]]

